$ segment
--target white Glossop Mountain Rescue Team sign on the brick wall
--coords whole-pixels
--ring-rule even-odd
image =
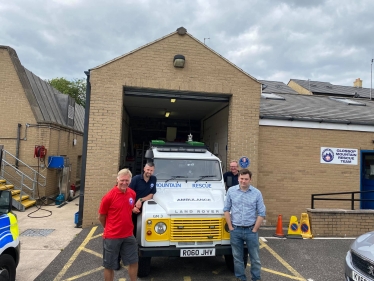
[[[352,148],[321,147],[323,164],[357,165],[358,150]]]

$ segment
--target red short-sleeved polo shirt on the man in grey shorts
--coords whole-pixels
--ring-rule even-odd
[[[135,197],[135,191],[131,188],[121,192],[117,186],[104,195],[99,208],[99,214],[106,215],[104,238],[118,239],[132,235]]]

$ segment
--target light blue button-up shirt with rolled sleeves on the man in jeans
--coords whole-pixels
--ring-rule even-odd
[[[239,185],[232,186],[227,191],[223,211],[231,211],[231,223],[240,226],[253,225],[258,216],[265,217],[266,215],[261,191],[252,185],[247,191],[242,191]]]

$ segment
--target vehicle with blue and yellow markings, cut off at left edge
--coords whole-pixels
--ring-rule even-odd
[[[12,193],[0,190],[0,281],[16,280],[20,257],[17,216],[12,213]]]

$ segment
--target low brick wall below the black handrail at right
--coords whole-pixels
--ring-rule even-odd
[[[374,210],[307,209],[313,237],[356,237],[373,231]]]

